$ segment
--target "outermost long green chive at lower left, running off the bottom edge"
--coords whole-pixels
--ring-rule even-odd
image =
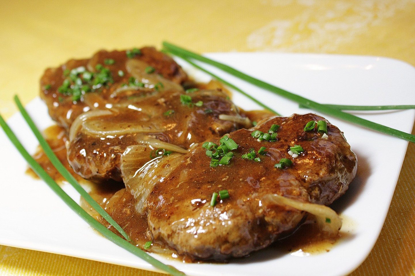
[[[15,97],[16,98],[16,97]],[[87,222],[91,227],[95,228],[98,232],[100,232],[104,237],[108,240],[114,242],[116,245],[126,249],[127,251],[131,252],[132,254],[136,255],[137,257],[147,261],[152,266],[164,270],[167,273],[170,273],[174,276],[184,276],[183,272],[178,271],[173,266],[168,266],[163,264],[161,261],[154,259],[146,252],[142,251],[135,245],[127,242],[123,238],[119,237],[115,233],[108,230],[104,225],[99,223],[95,220],[92,216],[90,216],[81,206],[78,205],[62,188],[56,184],[56,182],[47,174],[44,169],[33,159],[32,156],[27,152],[27,150],[23,147],[20,141],[17,139],[13,131],[7,125],[5,120],[0,115],[0,125],[2,126],[3,130],[5,131],[7,137],[9,137],[10,141],[15,145],[17,150],[19,150],[20,154],[24,157],[30,167],[36,172],[36,174],[44,180],[44,182],[75,212],[77,213],[85,222]],[[98,203],[97,203],[98,204]]]

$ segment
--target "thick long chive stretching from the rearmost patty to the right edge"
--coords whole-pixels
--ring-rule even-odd
[[[372,121],[368,121],[368,120],[362,119],[360,117],[354,116],[352,114],[340,111],[340,110],[335,109],[333,107],[326,106],[324,104],[319,104],[319,103],[314,102],[310,99],[301,97],[300,95],[288,92],[288,91],[283,90],[279,87],[273,86],[269,83],[266,83],[264,81],[261,81],[259,79],[254,78],[254,77],[251,77],[251,76],[249,76],[247,74],[244,74],[241,71],[238,71],[238,70],[236,70],[236,69],[234,69],[234,68],[232,68],[228,65],[225,65],[225,64],[217,62],[217,61],[213,61],[213,60],[211,60],[209,58],[206,58],[204,56],[200,56],[196,53],[193,53],[193,52],[190,52],[186,49],[180,48],[180,47],[175,46],[173,44],[170,44],[166,41],[163,42],[163,46],[165,47],[165,51],[168,51],[169,53],[171,53],[173,55],[176,55],[176,56],[181,57],[181,58],[184,57],[186,60],[188,60],[189,58],[193,58],[195,60],[202,61],[202,62],[208,63],[210,65],[216,66],[217,68],[220,68],[220,69],[224,70],[225,72],[227,72],[229,74],[232,74],[236,77],[239,77],[242,80],[245,80],[245,81],[250,82],[251,84],[254,84],[258,87],[269,90],[270,92],[272,92],[274,94],[278,94],[278,95],[280,95],[282,97],[285,97],[287,99],[291,99],[292,101],[297,102],[298,104],[306,106],[310,109],[314,109],[316,111],[322,112],[323,114],[334,116],[334,117],[337,117],[339,119],[349,121],[350,123],[355,123],[355,124],[358,124],[360,126],[364,126],[366,128],[370,128],[370,129],[373,129],[375,131],[386,133],[388,135],[395,136],[395,137],[410,141],[412,143],[415,143],[415,135],[412,135],[410,133],[405,133],[405,132],[399,131],[397,129],[389,128],[387,126],[383,126],[381,124],[374,123]]]

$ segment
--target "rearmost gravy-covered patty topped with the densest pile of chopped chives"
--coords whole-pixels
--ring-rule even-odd
[[[187,80],[183,69],[154,47],[101,50],[90,59],[72,59],[57,68],[46,69],[40,80],[40,97],[51,118],[68,131],[83,112],[117,102],[118,92],[124,91],[125,85],[130,92],[140,89],[149,93],[160,88],[159,83],[166,89],[183,90],[181,84]]]

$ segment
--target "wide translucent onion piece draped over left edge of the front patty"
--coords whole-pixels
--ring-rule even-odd
[[[144,152],[143,145],[127,147],[121,156],[120,169],[122,180],[130,193],[136,199],[135,208],[143,214],[147,206],[147,198],[157,183],[166,177],[180,164],[179,153],[156,157],[142,165],[143,156],[149,158],[148,150]],[[165,166],[167,165],[168,166]]]

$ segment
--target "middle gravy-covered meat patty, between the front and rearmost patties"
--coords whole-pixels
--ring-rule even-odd
[[[188,102],[183,102],[183,96]],[[122,181],[120,157],[127,146],[141,145],[141,156],[136,159],[141,166],[151,160],[151,155],[155,157],[154,150],[166,148],[149,139],[186,152],[193,143],[241,128],[239,123],[219,119],[220,115],[240,117],[237,107],[220,90],[166,90],[130,98],[111,109],[88,111],[76,119],[69,135],[68,161],[85,179]]]

